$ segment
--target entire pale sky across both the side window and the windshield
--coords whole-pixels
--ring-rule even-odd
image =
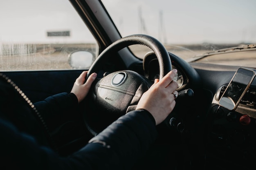
[[[256,0],[102,1],[122,36],[146,33],[167,44],[256,43]],[[0,21],[0,42],[94,42],[68,0],[1,1]],[[67,30],[70,37],[47,37],[47,31]]]

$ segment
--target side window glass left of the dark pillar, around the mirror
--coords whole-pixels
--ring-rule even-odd
[[[87,51],[88,67],[97,43],[67,0],[14,0],[0,5],[0,71],[80,69],[70,54]]]

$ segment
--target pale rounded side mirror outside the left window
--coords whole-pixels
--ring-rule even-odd
[[[73,51],[68,55],[68,62],[72,68],[89,69],[94,61],[94,55],[89,51]]]

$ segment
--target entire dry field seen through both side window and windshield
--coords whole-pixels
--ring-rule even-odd
[[[235,46],[230,44],[229,46]],[[187,60],[193,56],[216,49],[227,48],[223,45],[165,45],[167,51]],[[207,47],[205,50],[202,47]],[[132,52],[140,58],[151,51],[142,45],[130,46]],[[85,50],[94,55],[97,53],[95,44],[0,44],[0,70],[1,71],[29,71],[29,70],[62,70],[72,69],[68,56],[72,51]],[[243,53],[227,53],[218,57],[206,57],[202,62],[225,65],[255,67],[256,53],[247,51]],[[217,56],[217,55],[216,55]]]

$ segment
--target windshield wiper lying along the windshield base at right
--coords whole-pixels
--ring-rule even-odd
[[[238,52],[238,51],[250,51],[250,50],[256,50],[256,44],[248,44],[248,45],[242,45],[242,46],[236,46],[236,47],[230,47],[230,48],[226,48],[226,49],[211,51],[211,52],[203,53],[202,55],[196,55],[186,61],[187,62],[195,62],[197,60],[200,60],[204,57],[208,57],[210,55],[223,54],[223,53],[234,53],[234,52]]]

